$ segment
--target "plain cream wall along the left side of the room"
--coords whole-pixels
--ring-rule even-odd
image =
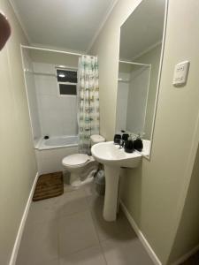
[[[0,264],[9,264],[19,224],[36,175],[20,43],[27,44],[7,0],[0,0],[11,23],[11,38],[0,51]]]

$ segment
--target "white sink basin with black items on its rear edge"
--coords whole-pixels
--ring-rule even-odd
[[[142,159],[141,153],[137,151],[126,153],[124,148],[114,145],[113,141],[94,145],[91,148],[91,153],[99,163],[116,167],[134,168]]]

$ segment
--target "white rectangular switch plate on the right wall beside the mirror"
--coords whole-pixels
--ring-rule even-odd
[[[173,86],[178,87],[186,84],[188,79],[189,64],[190,63],[188,61],[185,61],[175,65],[174,75],[172,79]]]

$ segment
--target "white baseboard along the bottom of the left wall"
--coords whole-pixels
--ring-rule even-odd
[[[17,234],[17,238],[15,239],[15,242],[14,242],[14,247],[13,247],[13,250],[12,250],[12,253],[11,253],[11,260],[9,262],[9,265],[15,265],[15,262],[17,260],[17,255],[18,255],[19,246],[20,246],[20,240],[22,238],[22,234],[23,234],[23,231],[24,231],[25,223],[27,221],[27,214],[28,214],[28,211],[29,211],[29,208],[30,208],[30,204],[31,204],[33,195],[34,195],[34,188],[36,186],[36,182],[37,182],[38,178],[39,178],[39,173],[37,172],[36,176],[34,178],[34,183],[33,183],[33,186],[31,188],[29,197],[27,199],[26,208],[24,210],[23,216],[22,216],[21,221],[20,221],[19,231],[18,231],[18,234]]]

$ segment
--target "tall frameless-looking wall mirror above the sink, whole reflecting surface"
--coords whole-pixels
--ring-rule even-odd
[[[166,6],[166,0],[142,0],[120,28],[116,133],[152,140]]]

